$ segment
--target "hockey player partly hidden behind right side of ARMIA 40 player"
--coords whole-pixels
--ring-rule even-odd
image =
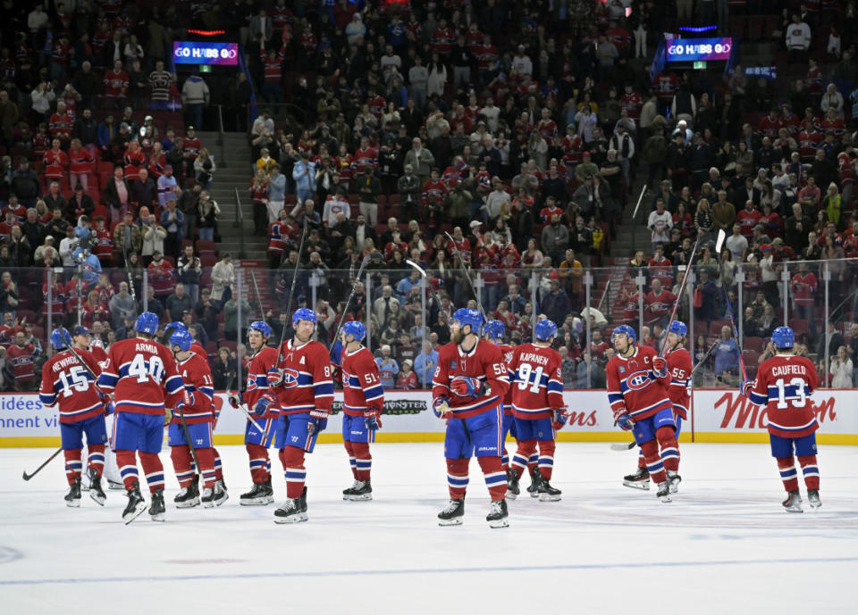
[[[214,379],[205,354],[192,350],[193,338],[187,329],[175,331],[170,336],[172,352],[176,357],[176,368],[185,386],[188,403],[176,410],[168,429],[168,444],[172,468],[176,471],[180,491],[173,499],[176,508],[193,508],[202,502],[206,508],[220,506],[229,499],[222,486],[216,483],[214,473]],[[181,415],[181,416],[180,416]],[[184,426],[182,425],[184,420]],[[187,433],[185,432],[187,426]],[[188,442],[190,437],[190,442]],[[195,470],[191,467],[193,446],[202,476],[203,493],[200,497]]]

